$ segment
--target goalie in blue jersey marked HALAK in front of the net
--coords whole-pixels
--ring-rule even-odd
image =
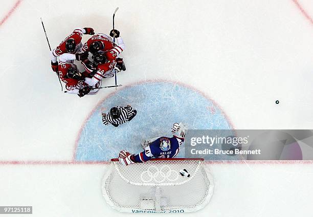
[[[151,158],[174,158],[180,151],[180,145],[184,143],[186,129],[186,126],[182,123],[174,123],[172,127],[173,137],[145,140],[142,143],[144,151],[137,155],[132,155],[125,150],[121,150],[119,161],[127,166],[132,163],[143,163]]]

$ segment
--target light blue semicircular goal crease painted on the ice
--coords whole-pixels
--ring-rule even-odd
[[[101,108],[130,104],[135,118],[118,127],[102,124]],[[105,111],[107,112],[107,111]],[[109,161],[122,149],[142,151],[141,141],[171,136],[175,122],[190,129],[231,129],[231,123],[217,104],[191,86],[171,81],[149,81],[125,86],[104,98],[82,126],[75,151],[76,161]],[[184,157],[181,148],[177,157]]]

